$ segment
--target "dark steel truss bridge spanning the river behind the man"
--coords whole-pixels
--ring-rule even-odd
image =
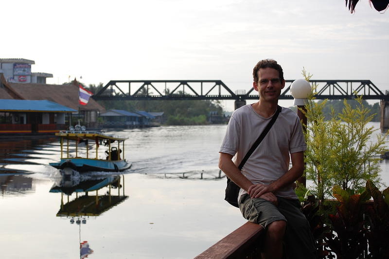
[[[293,99],[286,84],[280,99]],[[354,99],[389,101],[370,80],[310,80],[316,85],[317,99]],[[95,100],[258,100],[252,87],[233,92],[221,80],[111,80],[92,96]]]

